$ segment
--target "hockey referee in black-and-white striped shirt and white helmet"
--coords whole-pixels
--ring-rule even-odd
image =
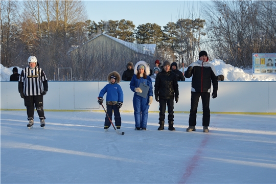
[[[29,66],[21,72],[18,81],[18,91],[21,98],[24,98],[24,104],[27,108],[27,116],[29,129],[33,128],[34,124],[34,107],[40,119],[40,127],[45,128],[45,116],[43,110],[43,95],[48,91],[48,81],[43,70],[37,66],[35,56],[28,58]]]

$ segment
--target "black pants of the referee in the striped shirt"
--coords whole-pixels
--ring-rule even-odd
[[[34,118],[34,107],[36,108],[39,118],[44,118],[44,109],[43,109],[43,96],[26,96],[24,99],[24,104],[27,108],[27,116],[29,118]]]

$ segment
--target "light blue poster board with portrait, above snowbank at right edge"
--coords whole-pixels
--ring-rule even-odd
[[[253,74],[276,75],[276,53],[252,54]]]

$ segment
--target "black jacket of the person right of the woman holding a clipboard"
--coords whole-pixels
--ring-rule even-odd
[[[178,83],[176,74],[171,70],[169,72],[162,71],[156,75],[154,85],[154,95],[160,99],[178,98]]]

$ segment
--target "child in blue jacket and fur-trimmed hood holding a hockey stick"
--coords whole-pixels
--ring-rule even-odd
[[[121,128],[121,114],[120,108],[123,105],[124,94],[121,86],[118,84],[121,80],[121,76],[118,72],[111,72],[107,76],[107,81],[109,84],[106,84],[104,88],[100,91],[98,103],[101,105],[103,103],[103,96],[106,93],[106,111],[107,114],[112,120],[112,111],[114,112],[114,120],[117,129]],[[104,129],[108,130],[111,123],[108,119],[107,114],[105,115]]]

